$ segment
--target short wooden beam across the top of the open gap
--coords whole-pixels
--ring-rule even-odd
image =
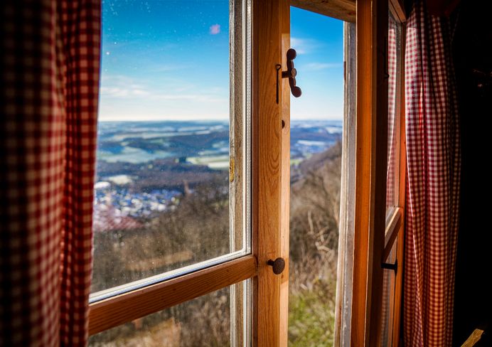
[[[292,6],[355,23],[355,0],[291,0]]]

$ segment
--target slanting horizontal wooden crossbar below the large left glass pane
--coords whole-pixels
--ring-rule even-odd
[[[253,255],[209,267],[89,306],[89,334],[133,321],[255,276]]]

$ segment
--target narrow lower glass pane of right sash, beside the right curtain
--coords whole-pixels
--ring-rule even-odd
[[[393,244],[386,262],[395,264],[397,240]],[[401,271],[401,269],[398,269]],[[395,319],[395,272],[392,269],[383,269],[383,308],[381,310],[381,346],[392,346],[393,321]]]

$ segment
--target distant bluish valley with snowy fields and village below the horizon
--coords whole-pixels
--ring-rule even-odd
[[[294,182],[301,161],[341,139],[342,124],[294,121],[291,126]],[[129,218],[162,212],[185,189],[223,179],[228,168],[228,122],[100,122],[95,231],[113,228],[105,214],[131,223]]]

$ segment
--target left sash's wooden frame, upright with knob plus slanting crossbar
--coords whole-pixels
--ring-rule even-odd
[[[287,65],[289,1],[253,1],[252,7],[252,254],[93,302],[90,336],[253,279],[253,345],[287,345],[290,89],[282,80],[277,103],[275,65]],[[267,265],[277,257],[286,261],[279,276]]]

